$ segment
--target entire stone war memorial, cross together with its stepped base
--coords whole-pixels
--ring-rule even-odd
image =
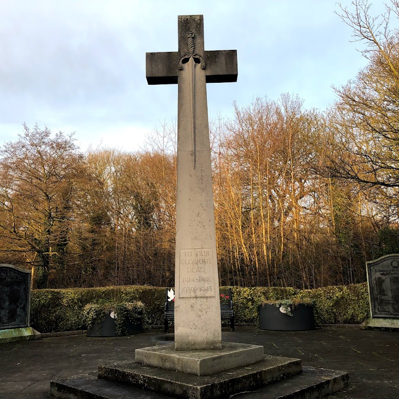
[[[136,349],[134,362],[99,366],[99,379],[52,381],[59,398],[86,398],[87,392],[103,398],[113,389],[118,398],[144,397],[129,388],[122,394],[125,384],[168,397],[216,399],[303,371],[299,359],[264,356],[263,346],[221,340],[206,83],[236,81],[237,55],[204,50],[202,15],[180,15],[178,35],[178,51],[146,54],[149,84],[178,83],[175,343]],[[320,398],[348,383],[347,373],[307,373],[288,390],[281,385],[278,397],[307,390]]]

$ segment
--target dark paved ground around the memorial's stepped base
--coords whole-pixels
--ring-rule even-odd
[[[349,371],[351,385],[330,399],[399,398],[399,333],[325,327],[315,331],[273,332],[255,327],[224,330],[223,340],[263,345],[268,355],[302,359],[304,366]],[[98,364],[129,360],[136,348],[173,339],[162,331],[130,337],[85,335],[0,345],[0,399],[49,399],[49,382],[82,373],[96,375]],[[237,397],[239,398],[239,397]]]

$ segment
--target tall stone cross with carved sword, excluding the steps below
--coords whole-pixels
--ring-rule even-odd
[[[146,53],[148,84],[178,83],[175,349],[221,349],[206,83],[235,82],[237,52],[204,50],[202,15],[180,15],[178,35]]]

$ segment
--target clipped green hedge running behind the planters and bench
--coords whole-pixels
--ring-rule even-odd
[[[221,287],[220,292],[226,292]],[[278,287],[232,287],[235,322],[257,323],[259,304],[264,300],[308,296],[316,301],[318,324],[359,324],[369,317],[367,283],[294,290]],[[119,286],[33,290],[30,299],[30,325],[41,333],[85,329],[82,311],[88,303],[144,303],[144,325],[163,325],[165,288]]]

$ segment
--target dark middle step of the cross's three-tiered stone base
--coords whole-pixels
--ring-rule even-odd
[[[299,359],[265,356],[265,360],[212,374],[194,376],[137,363],[99,366],[99,378],[164,395],[187,399],[216,399],[250,391],[302,372]]]

